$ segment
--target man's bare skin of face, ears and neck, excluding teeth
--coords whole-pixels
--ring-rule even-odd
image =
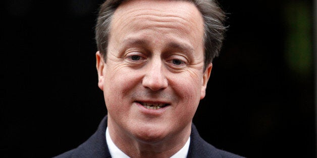
[[[203,48],[203,20],[189,2],[135,0],[116,10],[107,61],[96,52],[96,67],[110,136],[127,155],[170,157],[184,146],[212,70],[203,70]]]

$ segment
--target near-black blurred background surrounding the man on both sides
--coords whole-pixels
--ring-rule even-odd
[[[102,1],[3,1],[0,157],[51,157],[107,113],[94,24]],[[315,157],[312,1],[219,1],[229,30],[193,122],[247,157]]]

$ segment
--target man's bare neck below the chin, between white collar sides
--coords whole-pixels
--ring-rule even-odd
[[[116,146],[130,157],[171,157],[185,145],[190,136],[191,124],[181,132],[154,141],[141,140],[123,132],[124,130],[109,115],[108,128]]]

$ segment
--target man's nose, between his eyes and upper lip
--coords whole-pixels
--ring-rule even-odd
[[[142,80],[142,85],[152,91],[164,90],[168,86],[168,81],[164,72],[164,65],[161,60],[152,60],[146,66],[146,72]]]

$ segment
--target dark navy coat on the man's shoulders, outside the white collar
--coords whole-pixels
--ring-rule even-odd
[[[62,153],[60,157],[111,157],[107,142],[105,140],[105,129],[107,128],[107,116],[105,116],[97,131],[77,148]],[[239,155],[217,149],[204,141],[198,134],[194,124],[191,127],[190,144],[187,157],[241,157]]]

